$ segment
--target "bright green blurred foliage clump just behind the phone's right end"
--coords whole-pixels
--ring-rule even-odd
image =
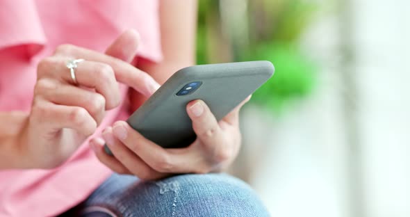
[[[261,43],[244,61],[265,60],[275,66],[275,74],[252,95],[252,102],[281,112],[293,99],[302,99],[315,84],[316,65],[297,47],[286,42]]]

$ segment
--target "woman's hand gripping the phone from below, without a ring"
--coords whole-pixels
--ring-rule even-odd
[[[187,112],[197,139],[185,148],[164,149],[144,138],[124,121],[104,130],[105,141],[93,138],[90,145],[108,168],[120,174],[136,175],[140,179],[220,171],[229,166],[238,154],[241,141],[238,114],[249,99],[245,99],[220,122],[201,100],[190,102]],[[104,152],[105,142],[115,157]]]

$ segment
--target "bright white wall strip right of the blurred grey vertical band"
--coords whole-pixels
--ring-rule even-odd
[[[409,1],[352,1],[366,216],[410,216]]]

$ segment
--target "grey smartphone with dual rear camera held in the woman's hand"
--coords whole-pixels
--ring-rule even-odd
[[[126,122],[165,148],[186,147],[196,138],[186,104],[202,99],[217,120],[224,118],[274,74],[268,61],[186,67],[170,77]],[[107,146],[107,154],[112,155]]]

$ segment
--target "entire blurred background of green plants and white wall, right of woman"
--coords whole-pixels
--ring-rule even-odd
[[[410,216],[410,1],[200,0],[199,64],[268,60],[231,173],[272,216]]]

